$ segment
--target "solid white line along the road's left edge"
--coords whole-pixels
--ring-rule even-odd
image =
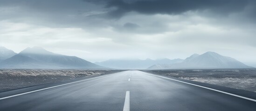
[[[117,73],[115,73],[115,74],[117,74]],[[94,78],[90,78],[90,79],[86,79],[86,80],[96,79],[96,78],[110,76],[110,75],[113,75],[113,74],[99,76],[99,77],[94,77]],[[64,86],[64,85],[73,84],[73,83],[81,82],[81,81],[85,81],[85,80],[79,80],[79,81],[70,82],[70,83],[66,83],[66,84],[62,84],[62,85],[58,85],[58,86]],[[0,98],[0,100],[12,98],[12,97],[15,97],[15,96],[21,96],[21,95],[28,94],[28,93],[34,93],[34,92],[38,92],[38,91],[42,91],[42,90],[46,90],[46,89],[50,89],[50,88],[54,88],[54,87],[58,87],[58,86],[52,86],[52,87],[47,87],[47,88],[43,88],[43,89],[39,89],[39,90],[35,90],[35,91],[26,92],[26,93],[15,94],[15,95],[12,95],[12,96],[7,96],[7,97]]]

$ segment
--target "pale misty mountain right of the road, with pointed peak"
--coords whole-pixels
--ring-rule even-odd
[[[183,62],[176,64],[155,64],[148,69],[213,69],[213,68],[253,68],[231,57],[221,56],[215,52],[202,55],[194,54]]]

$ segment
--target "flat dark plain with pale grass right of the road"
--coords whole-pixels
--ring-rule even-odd
[[[165,69],[142,70],[163,76],[198,81],[256,93],[256,69]]]

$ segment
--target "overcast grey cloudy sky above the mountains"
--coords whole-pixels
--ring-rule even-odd
[[[0,45],[90,62],[214,51],[256,63],[256,0],[0,0]]]

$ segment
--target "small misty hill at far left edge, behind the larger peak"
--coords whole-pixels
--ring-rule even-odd
[[[5,47],[0,47],[0,61],[6,60],[14,55],[16,55],[13,50],[7,49]]]

